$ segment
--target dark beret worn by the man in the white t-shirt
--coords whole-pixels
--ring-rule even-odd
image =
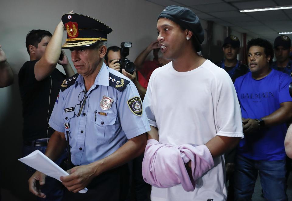
[[[171,21],[179,24],[180,26],[189,29],[193,32],[194,38],[196,39],[199,49],[196,51],[201,51],[201,44],[203,43],[205,39],[205,34],[203,27],[200,23],[200,19],[198,16],[191,11],[189,8],[183,8],[177,5],[171,5],[166,7],[160,15],[158,15],[158,18],[167,18]]]

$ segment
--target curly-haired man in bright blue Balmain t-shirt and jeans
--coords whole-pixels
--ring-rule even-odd
[[[267,40],[252,39],[247,49],[251,72],[234,83],[245,135],[237,149],[235,200],[251,200],[258,173],[266,200],[287,200],[284,138],[292,117],[291,78],[269,68],[274,53]]]

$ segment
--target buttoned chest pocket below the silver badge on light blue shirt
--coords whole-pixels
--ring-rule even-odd
[[[94,123],[94,135],[97,137],[97,144],[107,143],[113,139],[115,134],[115,115],[103,116],[93,113],[91,121]]]

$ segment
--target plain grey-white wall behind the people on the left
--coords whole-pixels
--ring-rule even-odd
[[[1,187],[4,188],[2,196],[10,196],[3,200],[32,199],[28,199],[30,193],[23,165],[16,160],[21,157],[23,122],[17,74],[23,63],[29,60],[25,47],[26,34],[32,29],[45,29],[53,33],[61,16],[71,10],[96,18],[113,28],[108,35],[108,46],[132,42],[128,58],[134,61],[157,38],[157,16],[163,7],[144,0],[1,0],[0,44],[15,74],[12,86],[0,88]],[[206,29],[206,21],[201,22]],[[223,27],[215,24],[214,33],[216,45],[217,40],[224,39]],[[65,38],[64,32],[63,41]],[[70,59],[69,51],[65,50],[65,53]],[[61,66],[57,68],[62,70]]]

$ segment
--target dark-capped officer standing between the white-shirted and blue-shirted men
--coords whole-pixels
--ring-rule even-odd
[[[230,75],[232,82],[234,83],[235,79],[239,76],[245,75],[249,68],[247,65],[237,60],[237,55],[240,50],[240,41],[236,36],[230,35],[226,37],[222,47],[224,59],[217,63],[217,66],[225,69],[226,72],[228,72]]]

